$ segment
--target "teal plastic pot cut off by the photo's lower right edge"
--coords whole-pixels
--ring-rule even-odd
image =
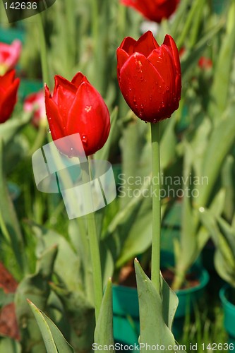
[[[229,352],[235,352],[235,305],[229,301],[232,290],[234,288],[224,285],[219,291],[219,297],[224,309],[224,328],[229,335]]]

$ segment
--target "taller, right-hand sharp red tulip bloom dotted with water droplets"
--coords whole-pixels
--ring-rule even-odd
[[[148,122],[167,119],[181,99],[181,67],[173,38],[159,47],[152,32],[139,40],[126,37],[117,49],[121,92],[135,115]]]

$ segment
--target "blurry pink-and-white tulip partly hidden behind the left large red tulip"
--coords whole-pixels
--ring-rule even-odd
[[[44,92],[40,90],[39,92],[28,95],[28,97],[25,98],[23,109],[25,112],[34,111],[32,124],[35,127],[44,124],[44,121],[47,121]]]

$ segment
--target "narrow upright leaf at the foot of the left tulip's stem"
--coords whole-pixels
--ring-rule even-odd
[[[114,347],[113,337],[113,309],[112,309],[112,282],[107,282],[107,287],[104,292],[100,315],[95,328],[95,340],[97,345],[104,347]],[[115,352],[114,349],[109,349],[107,352]]]

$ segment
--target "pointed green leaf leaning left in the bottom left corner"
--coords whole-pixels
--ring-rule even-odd
[[[37,325],[42,333],[42,338],[47,348],[47,352],[74,352],[71,345],[68,344],[60,332],[59,328],[57,328],[56,325],[42,311],[40,311],[35,304],[32,303],[32,301],[28,300],[28,304],[30,304],[32,313],[37,320]]]

